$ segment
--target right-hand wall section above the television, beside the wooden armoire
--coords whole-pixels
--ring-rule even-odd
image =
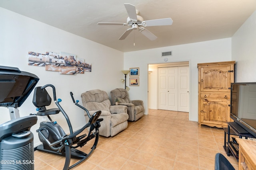
[[[235,82],[256,82],[256,11],[232,37]]]

